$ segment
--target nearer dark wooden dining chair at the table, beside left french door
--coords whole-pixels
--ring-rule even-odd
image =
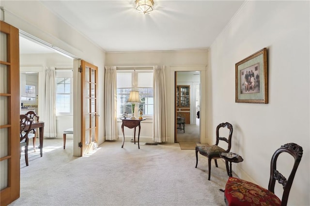
[[[21,147],[25,146],[25,162],[26,166],[28,166],[28,146],[29,139],[34,139],[34,133],[31,133],[29,128],[32,126],[32,120],[27,117],[27,115],[20,115],[19,118],[20,123],[20,156],[21,156]]]

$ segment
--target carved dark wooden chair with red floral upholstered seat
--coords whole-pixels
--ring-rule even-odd
[[[286,179],[277,170],[279,154],[289,153],[294,157],[294,165],[291,173]],[[288,143],[281,146],[273,154],[270,164],[270,178],[268,190],[259,185],[235,177],[229,177],[225,186],[224,197],[227,206],[286,206],[293,179],[302,157],[302,147],[295,143]],[[288,171],[289,172],[289,171]],[[289,174],[289,173],[287,173]],[[275,194],[276,180],[283,186],[282,200]]]

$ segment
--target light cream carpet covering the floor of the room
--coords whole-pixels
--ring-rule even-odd
[[[225,206],[225,163],[179,144],[140,149],[131,142],[105,142],[91,155],[72,156],[72,140],[44,139],[43,157],[21,157],[20,198],[10,206]],[[234,174],[233,174],[234,175]]]

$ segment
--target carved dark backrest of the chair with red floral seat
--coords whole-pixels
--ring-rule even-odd
[[[279,157],[279,154],[281,153],[289,153],[294,157],[294,165],[291,171],[290,176],[288,179],[286,179],[279,171],[277,170],[277,160]],[[299,162],[301,160],[303,154],[303,149],[299,145],[295,143],[287,143],[283,146],[281,146],[279,149],[275,151],[271,158],[271,165],[270,165],[270,179],[269,179],[269,185],[268,190],[275,193],[275,183],[276,180],[283,186],[283,194],[282,194],[282,200],[281,205],[286,206],[287,200],[289,197],[289,193],[293,184],[293,180],[295,177],[295,173],[297,170],[297,167],[299,165]]]

